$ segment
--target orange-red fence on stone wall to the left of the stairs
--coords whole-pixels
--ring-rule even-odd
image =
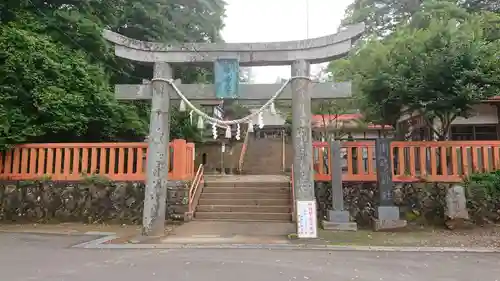
[[[169,179],[194,177],[194,144],[173,140],[169,153]],[[148,145],[137,143],[23,144],[0,153],[0,180],[80,180],[102,175],[116,181],[143,181]]]

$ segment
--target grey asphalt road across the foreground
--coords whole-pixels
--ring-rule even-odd
[[[500,280],[499,254],[70,248],[86,240],[0,234],[0,280]]]

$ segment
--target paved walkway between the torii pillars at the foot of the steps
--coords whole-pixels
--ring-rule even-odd
[[[176,227],[162,243],[289,243],[295,225],[286,222],[191,221]]]

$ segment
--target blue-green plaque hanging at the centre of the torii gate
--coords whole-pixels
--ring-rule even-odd
[[[237,59],[217,59],[214,62],[215,96],[219,99],[238,98],[240,64]]]

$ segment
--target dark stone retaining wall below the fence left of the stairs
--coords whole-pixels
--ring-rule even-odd
[[[187,211],[189,184],[169,181],[167,215],[180,220]],[[140,224],[143,182],[18,181],[0,183],[0,222],[83,222]]]

